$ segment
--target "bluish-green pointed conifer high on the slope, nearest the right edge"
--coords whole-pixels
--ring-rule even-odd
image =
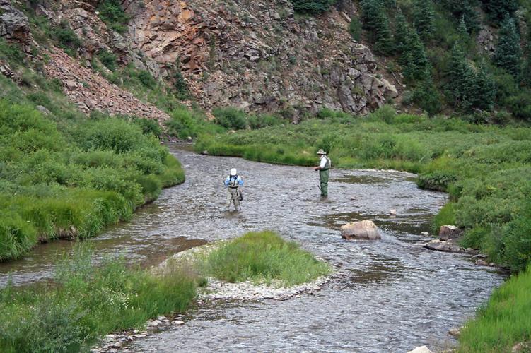
[[[515,78],[520,76],[522,65],[520,35],[516,30],[515,21],[510,16],[506,16],[501,22],[498,44],[494,52],[494,63],[505,68]]]

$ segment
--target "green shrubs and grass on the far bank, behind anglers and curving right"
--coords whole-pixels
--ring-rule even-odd
[[[531,239],[520,232],[522,238],[515,242],[513,222],[530,219],[529,128],[397,115],[390,107],[363,119],[327,110],[318,116],[296,126],[200,136],[195,148],[211,155],[306,166],[315,164],[316,150],[324,148],[336,167],[419,173],[419,186],[450,193],[447,210],[453,210],[449,214],[455,213],[455,222],[465,229],[468,246],[513,270],[525,268]]]

